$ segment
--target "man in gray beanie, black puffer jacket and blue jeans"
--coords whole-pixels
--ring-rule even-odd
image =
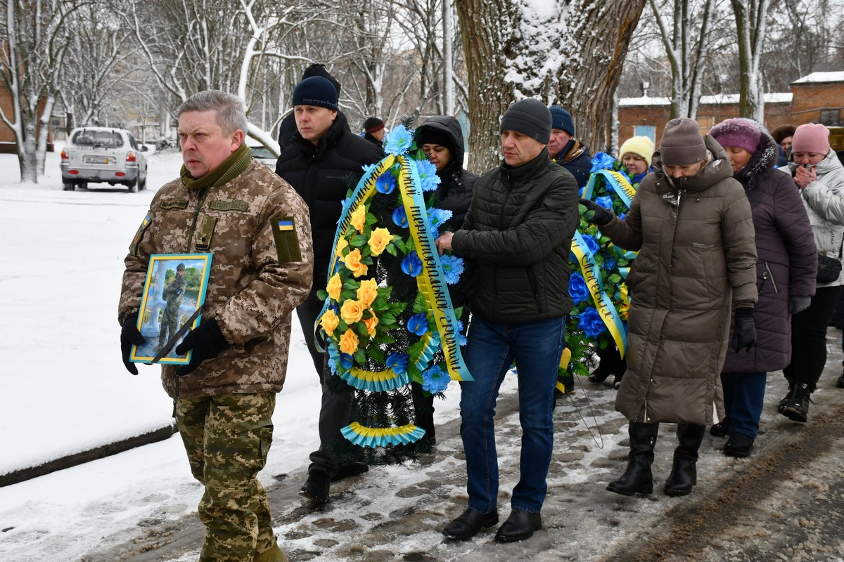
[[[498,522],[495,398],[513,361],[522,420],[520,479],[511,513],[495,535],[524,540],[542,528],[539,513],[554,442],[554,388],[571,311],[569,252],[578,222],[577,185],[549,158],[551,115],[522,99],[501,118],[504,162],[475,184],[472,206],[437,247],[477,269],[472,327],[464,358],[473,381],[462,383],[460,435],[466,452],[468,508],[443,534],[463,540]]]

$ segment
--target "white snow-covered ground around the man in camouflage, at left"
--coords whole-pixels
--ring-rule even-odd
[[[149,189],[131,194],[107,184],[62,191],[60,151],[48,153],[38,185],[20,185],[17,159],[0,154],[0,474],[171,423],[160,368],[133,377],[122,365],[116,305],[128,244],[181,156],[151,154]],[[295,315],[292,339],[262,478],[306,465],[317,443],[317,374]],[[457,416],[457,398],[437,415]],[[0,559],[76,560],[149,513],[195,509],[200,495],[178,436],[9,485]]]

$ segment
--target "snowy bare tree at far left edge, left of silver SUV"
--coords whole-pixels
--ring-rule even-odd
[[[12,99],[0,120],[17,143],[20,179],[37,183],[44,173],[50,120],[68,45],[67,22],[78,3],[6,0],[0,21],[0,77]]]

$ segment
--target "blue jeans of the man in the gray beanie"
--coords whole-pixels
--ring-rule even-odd
[[[469,507],[480,513],[498,507],[498,457],[495,453],[495,400],[506,372],[516,361],[522,454],[519,482],[511,507],[538,513],[548,484],[554,446],[554,388],[565,348],[565,319],[501,324],[472,318],[464,354],[474,378],[461,384],[460,436],[466,452]]]

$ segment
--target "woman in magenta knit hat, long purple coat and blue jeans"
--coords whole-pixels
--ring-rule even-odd
[[[814,295],[817,250],[809,217],[793,179],[774,169],[776,142],[748,119],[728,119],[709,135],[727,152],[733,178],[744,186],[756,232],[756,345],[749,352],[727,351],[721,382],[726,416],[712,426],[729,435],[724,454],[747,457],[759,431],[766,376],[791,361],[791,315]]]

